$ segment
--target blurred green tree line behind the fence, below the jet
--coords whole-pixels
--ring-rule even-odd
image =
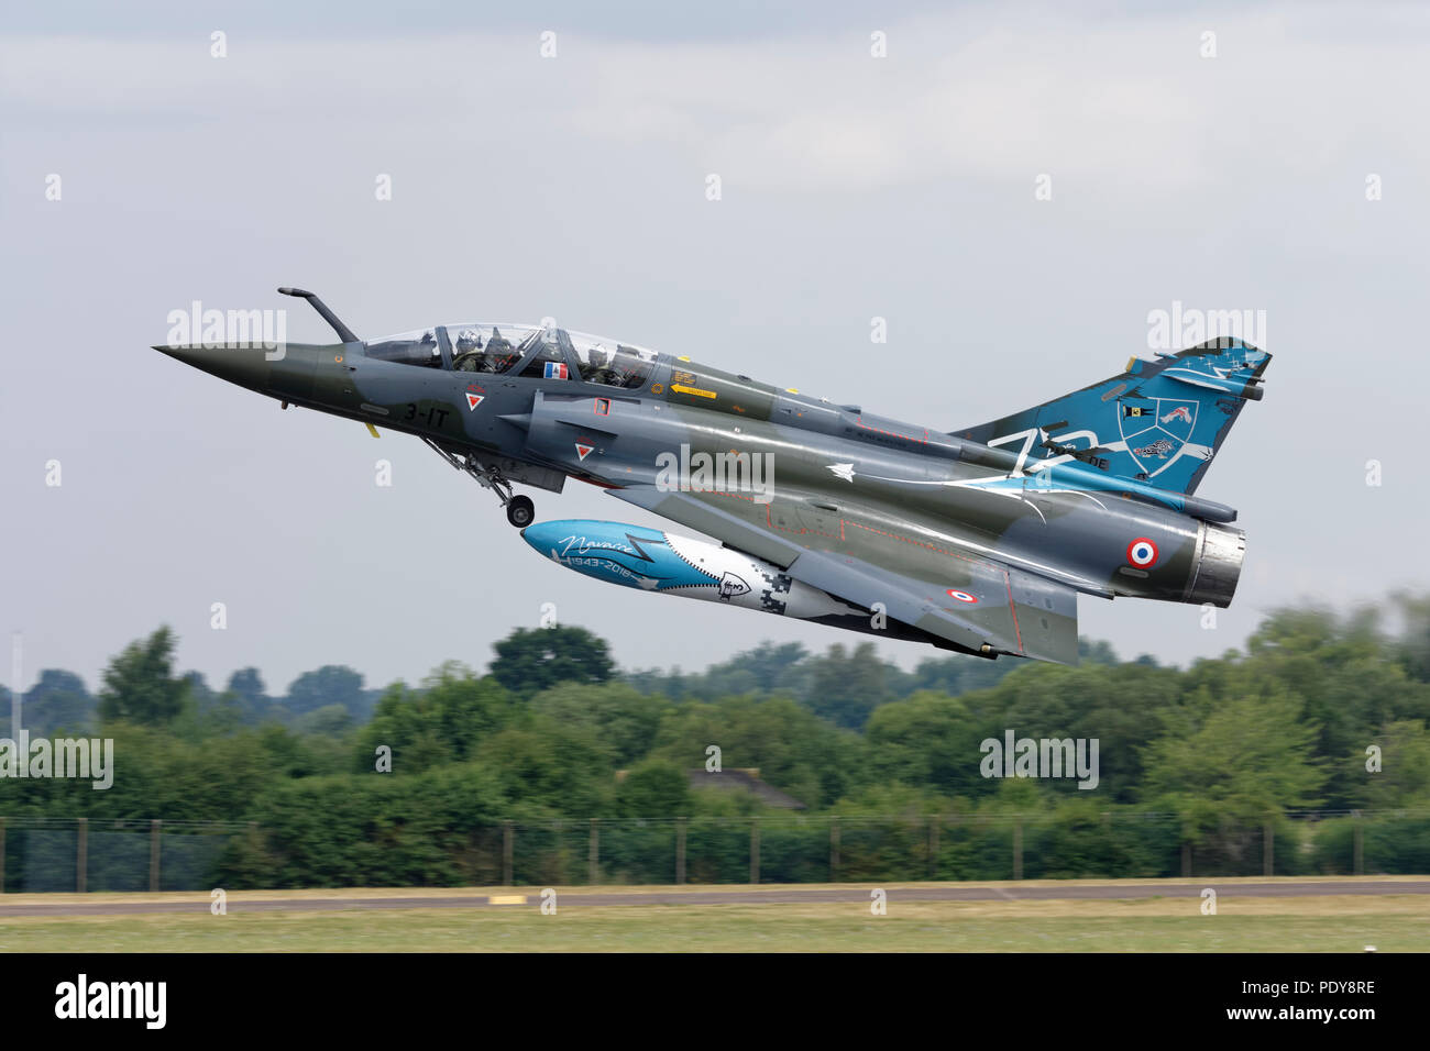
[[[1041,822],[1051,875],[1175,875],[1187,844],[1254,865],[1273,834],[1277,871],[1348,871],[1354,811],[1381,815],[1373,871],[1430,868],[1430,598],[1280,609],[1187,668],[1084,643],[1078,668],[938,656],[905,672],[868,643],[764,643],[704,672],[622,672],[582,628],[518,629],[480,671],[449,662],[370,699],[345,668],[280,701],[255,669],[214,692],[174,668],[174,642],[160,628],[127,646],[93,698],[44,672],[31,734],[39,714],[44,732],[114,738],[114,785],[0,781],[0,816],[253,822],[223,861],[235,887],[460,882],[473,837],[506,821],[765,814],[699,791],[714,745],[808,815]],[[982,742],[1008,731],[1097,739],[1095,791],[985,776]],[[1306,811],[1330,816],[1293,819]],[[964,871],[997,874],[1000,851],[970,845]]]

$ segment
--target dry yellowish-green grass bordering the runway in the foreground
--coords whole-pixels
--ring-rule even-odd
[[[1028,887],[1030,884],[1022,884]],[[1430,895],[1384,894],[1237,898],[1218,884],[1217,915],[1195,898],[867,904],[561,907],[539,898],[502,908],[243,912],[243,901],[335,897],[459,897],[480,889],[262,891],[229,897],[230,912],[104,917],[0,917],[0,952],[130,951],[982,951],[982,952],[1361,952],[1430,948]],[[569,888],[572,894],[639,894],[651,888]],[[702,888],[668,888],[702,889]],[[739,888],[708,888],[738,891]],[[768,889],[768,888],[765,888]],[[845,887],[845,889],[849,889]],[[522,891],[518,891],[522,892]],[[76,902],[76,895],[4,895],[0,904]],[[84,901],[186,899],[207,895],[86,895]]]

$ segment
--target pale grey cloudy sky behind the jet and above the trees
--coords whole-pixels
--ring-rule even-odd
[[[480,668],[545,603],[628,668],[865,638],[582,578],[418,439],[150,349],[193,300],[327,342],[280,285],[363,337],[555,317],[941,430],[1151,356],[1174,303],[1264,312],[1266,399],[1198,490],[1248,533],[1233,606],[1084,596],[1084,636],[1184,663],[1278,606],[1424,589],[1427,44],[1411,4],[7,4],[20,685],[93,688],[160,623],[182,668],[273,692]]]

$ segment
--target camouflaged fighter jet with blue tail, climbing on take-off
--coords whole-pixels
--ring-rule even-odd
[[[1195,493],[1264,350],[1221,337],[942,430],[555,325],[157,346],[283,403],[415,435],[541,555],[611,583],[985,658],[1077,662],[1080,595],[1227,606],[1237,512]],[[513,486],[606,489],[706,538],[536,523]]]

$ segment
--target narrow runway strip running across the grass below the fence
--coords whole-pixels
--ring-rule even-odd
[[[922,884],[881,885],[848,884],[839,887],[742,887],[742,888],[651,888],[622,891],[561,889],[558,894],[562,909],[605,908],[615,905],[797,905],[797,904],[849,904],[868,905],[869,892],[881,888],[889,902],[897,901],[1057,901],[1057,899],[1148,899],[1148,898],[1198,898],[1203,889],[1211,888],[1223,901],[1234,898],[1310,898],[1338,895],[1390,895],[1430,894],[1430,879],[1207,879],[1178,882],[1038,882],[1038,884]],[[236,912],[337,912],[337,911],[400,911],[400,909],[488,909],[539,905],[542,888],[502,888],[472,894],[428,894],[393,895],[380,892],[359,892],[345,897],[247,897],[262,891],[235,892],[229,895],[226,908]],[[134,899],[134,895],[116,895],[114,899],[90,895],[14,895],[19,898],[43,897],[46,901],[24,901],[9,904],[0,895],[0,918],[6,917],[104,917],[139,915],[160,912],[209,912],[207,892],[172,892],[153,895],[149,899]],[[56,901],[56,898],[63,898]]]

